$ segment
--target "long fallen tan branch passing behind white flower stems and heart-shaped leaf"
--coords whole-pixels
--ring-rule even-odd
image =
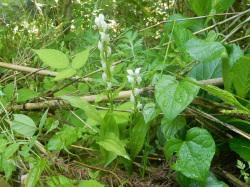
[[[223,81],[222,78],[217,78],[217,79],[208,79],[208,80],[202,80],[199,81],[200,84],[204,85],[222,85]],[[140,89],[140,94],[153,90],[153,87],[145,87]],[[116,100],[125,100],[128,99],[131,95],[132,91],[127,90],[127,91],[121,91],[119,94],[116,96]],[[98,98],[98,101],[107,101],[108,98],[106,96],[102,96],[100,98],[99,95],[88,95],[88,96],[82,96],[80,99],[88,101],[88,102],[95,102],[96,99]],[[60,99],[55,99],[55,100],[48,100],[48,101],[43,101],[43,102],[37,102],[37,103],[25,103],[22,105],[15,105],[11,107],[12,110],[38,110],[38,109],[43,109],[43,108],[58,108],[60,106],[65,106],[68,103],[60,100]]]

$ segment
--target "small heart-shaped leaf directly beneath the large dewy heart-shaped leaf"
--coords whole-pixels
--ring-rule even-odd
[[[161,120],[161,131],[166,140],[173,138],[176,133],[186,125],[186,119],[183,116],[178,116],[173,121],[167,118]]]

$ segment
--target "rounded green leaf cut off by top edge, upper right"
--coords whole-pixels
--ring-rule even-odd
[[[197,16],[204,16],[212,9],[212,0],[188,0],[188,4]]]

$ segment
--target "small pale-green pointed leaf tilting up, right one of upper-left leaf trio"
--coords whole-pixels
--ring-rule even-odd
[[[80,53],[77,53],[72,60],[72,64],[71,64],[72,68],[74,68],[76,70],[82,68],[88,60],[89,51],[90,51],[90,48],[88,48]]]

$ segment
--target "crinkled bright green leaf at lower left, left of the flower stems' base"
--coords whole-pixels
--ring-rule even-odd
[[[50,151],[60,151],[76,142],[80,137],[81,131],[78,128],[65,125],[49,139],[47,148]]]

